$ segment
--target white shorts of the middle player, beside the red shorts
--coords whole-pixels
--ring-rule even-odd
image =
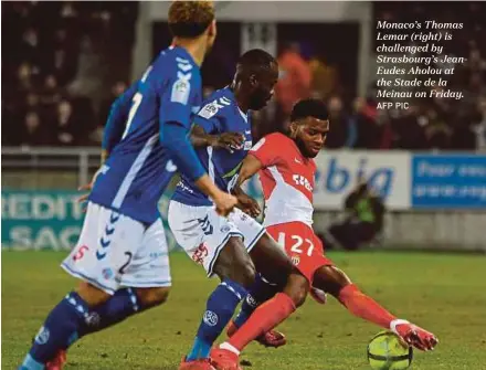
[[[213,275],[214,262],[231,236],[243,240],[251,251],[265,233],[265,229],[239,209],[226,218],[212,205],[187,205],[171,200],[168,221],[177,243],[208,273]]]

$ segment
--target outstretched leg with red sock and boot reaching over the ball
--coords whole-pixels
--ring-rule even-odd
[[[323,266],[317,269],[314,285],[335,296],[355,316],[394,331],[411,346],[421,350],[431,350],[439,342],[432,332],[390,314],[374,299],[363,294],[342,271],[335,266]]]

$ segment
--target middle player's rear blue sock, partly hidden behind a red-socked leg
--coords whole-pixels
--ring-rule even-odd
[[[241,328],[250,316],[252,316],[256,307],[272,298],[279,290],[278,285],[265,281],[260,274],[257,274],[255,283],[253,283],[246,298],[241,305],[241,310],[234,319],[234,324]]]

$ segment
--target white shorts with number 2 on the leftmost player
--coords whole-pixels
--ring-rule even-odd
[[[162,221],[147,229],[134,219],[92,202],[80,240],[61,267],[108,294],[120,286],[171,285]]]

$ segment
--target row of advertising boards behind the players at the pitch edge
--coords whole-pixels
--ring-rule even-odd
[[[392,211],[486,210],[486,155],[324,151],[314,189],[316,211],[342,210],[360,176],[370,180]],[[246,191],[262,202],[254,177]],[[2,247],[71,250],[84,213],[80,193],[65,190],[2,190]],[[170,193],[160,200],[169,249],[177,243],[167,226]]]

